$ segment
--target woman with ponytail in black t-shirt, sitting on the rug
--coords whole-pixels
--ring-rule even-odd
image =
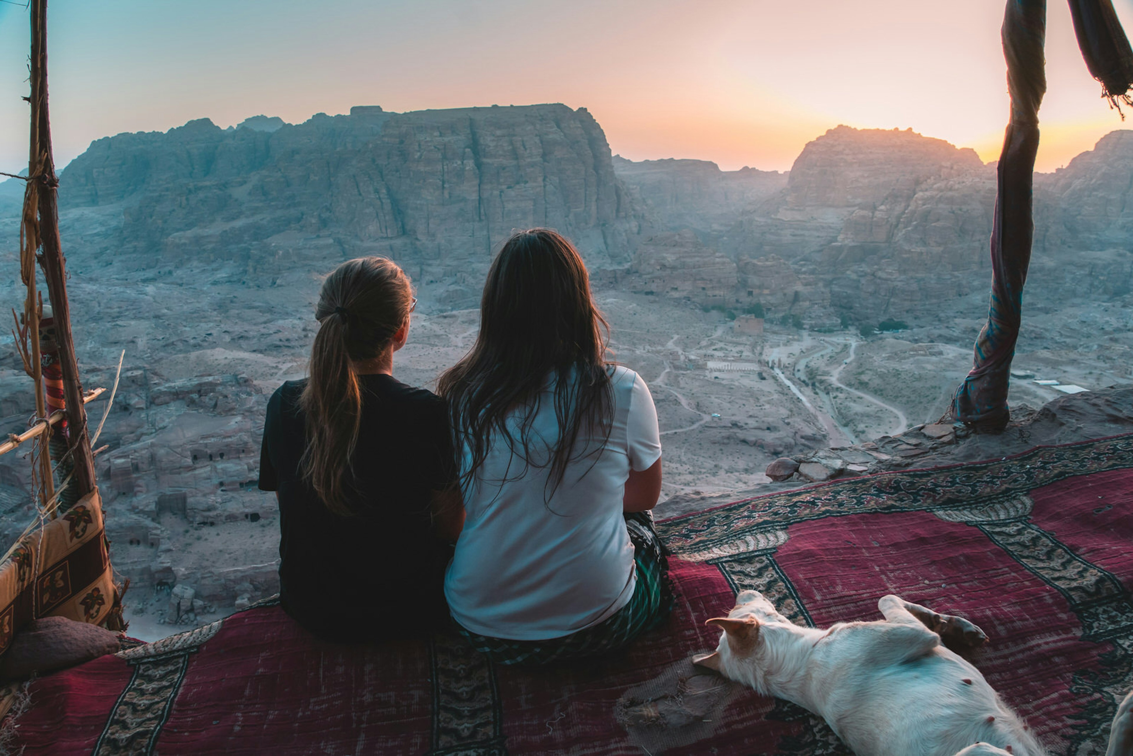
[[[324,638],[448,620],[444,567],[463,523],[448,410],[393,377],[416,303],[384,257],[339,265],[315,307],[310,376],[267,404],[259,487],[280,504],[280,601]]]

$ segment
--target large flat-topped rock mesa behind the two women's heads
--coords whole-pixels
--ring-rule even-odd
[[[535,226],[599,264],[629,261],[637,219],[585,109],[369,105],[295,126],[249,121],[99,139],[68,167],[65,206],[120,204],[105,245],[168,263],[270,266],[306,248],[386,254],[440,275],[486,264],[513,229]]]

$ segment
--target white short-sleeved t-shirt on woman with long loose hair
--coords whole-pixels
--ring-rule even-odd
[[[661,436],[645,381],[621,366],[611,381],[608,442],[600,452],[570,462],[550,500],[551,466],[526,466],[505,440],[491,444],[476,479],[463,490],[467,519],[444,593],[452,617],[472,632],[559,638],[597,625],[632,597],[633,544],[622,496],[630,469],[648,469],[661,458]],[[519,419],[508,426],[517,439]],[[583,439],[583,432],[576,450],[602,447],[600,436]],[[533,445],[548,447],[559,438],[553,384],[544,389],[530,438]],[[466,447],[466,470],[470,458]]]

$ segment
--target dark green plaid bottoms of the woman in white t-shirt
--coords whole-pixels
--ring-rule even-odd
[[[617,651],[657,627],[673,605],[665,547],[653,527],[651,512],[627,512],[625,528],[633,544],[637,585],[629,603],[598,625],[546,640],[489,638],[458,626],[460,634],[499,664],[543,665]]]

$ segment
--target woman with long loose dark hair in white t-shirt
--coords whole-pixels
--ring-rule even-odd
[[[648,511],[657,414],[641,377],[608,362],[607,331],[574,247],[522,231],[488,271],[475,346],[440,380],[467,511],[445,595],[505,664],[619,648],[668,609]]]

